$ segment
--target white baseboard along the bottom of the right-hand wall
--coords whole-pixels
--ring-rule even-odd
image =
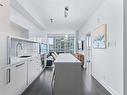
[[[107,85],[104,81],[99,80],[96,75],[91,74],[107,91],[109,91],[112,95],[119,95],[112,87]]]

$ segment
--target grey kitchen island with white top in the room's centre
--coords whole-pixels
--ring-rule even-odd
[[[81,95],[81,64],[72,54],[58,55],[55,60],[54,95]]]

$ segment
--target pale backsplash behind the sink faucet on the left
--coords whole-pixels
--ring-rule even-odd
[[[39,53],[39,44],[12,39],[10,51],[11,57],[31,56]]]

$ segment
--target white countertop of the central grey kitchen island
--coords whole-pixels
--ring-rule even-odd
[[[81,63],[70,53],[59,54],[54,63]]]

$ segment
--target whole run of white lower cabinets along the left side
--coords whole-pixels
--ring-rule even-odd
[[[20,95],[41,71],[37,57],[0,69],[0,95]]]

